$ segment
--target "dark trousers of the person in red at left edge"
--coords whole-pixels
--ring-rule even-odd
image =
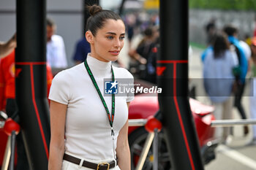
[[[7,111],[8,117],[11,117],[12,115],[15,114],[15,112],[18,111],[18,107],[15,102],[15,99],[12,99],[12,98],[7,99],[6,111]],[[22,132],[20,131],[20,133],[16,137],[17,155],[18,155],[16,170],[29,170],[29,162],[26,157],[26,151],[25,151],[23,137],[21,133]]]

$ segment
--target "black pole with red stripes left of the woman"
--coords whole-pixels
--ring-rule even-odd
[[[31,170],[48,169],[50,118],[46,82],[45,0],[16,1],[16,101]]]

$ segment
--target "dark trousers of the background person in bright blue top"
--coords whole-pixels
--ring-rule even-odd
[[[244,88],[245,88],[245,82],[239,83],[236,93],[235,93],[235,107],[238,109],[238,112],[240,113],[242,119],[246,119],[244,107],[241,104],[241,99],[242,99],[242,96],[244,93]]]

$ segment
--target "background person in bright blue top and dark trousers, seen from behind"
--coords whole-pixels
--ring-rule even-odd
[[[241,44],[237,38],[238,29],[234,26],[228,25],[223,28],[223,31],[228,35],[228,40],[231,45],[235,47],[236,55],[238,56],[238,67],[236,69],[236,91],[235,91],[235,107],[241,115],[242,119],[246,119],[246,113],[244,107],[241,104],[242,96],[244,93],[244,88],[246,85],[246,74],[248,70],[248,61],[246,59],[246,54],[241,47]],[[244,125],[244,135],[249,133],[249,128]]]

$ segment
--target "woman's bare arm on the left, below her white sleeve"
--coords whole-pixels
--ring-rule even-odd
[[[50,156],[48,169],[61,170],[67,105],[50,101]]]

